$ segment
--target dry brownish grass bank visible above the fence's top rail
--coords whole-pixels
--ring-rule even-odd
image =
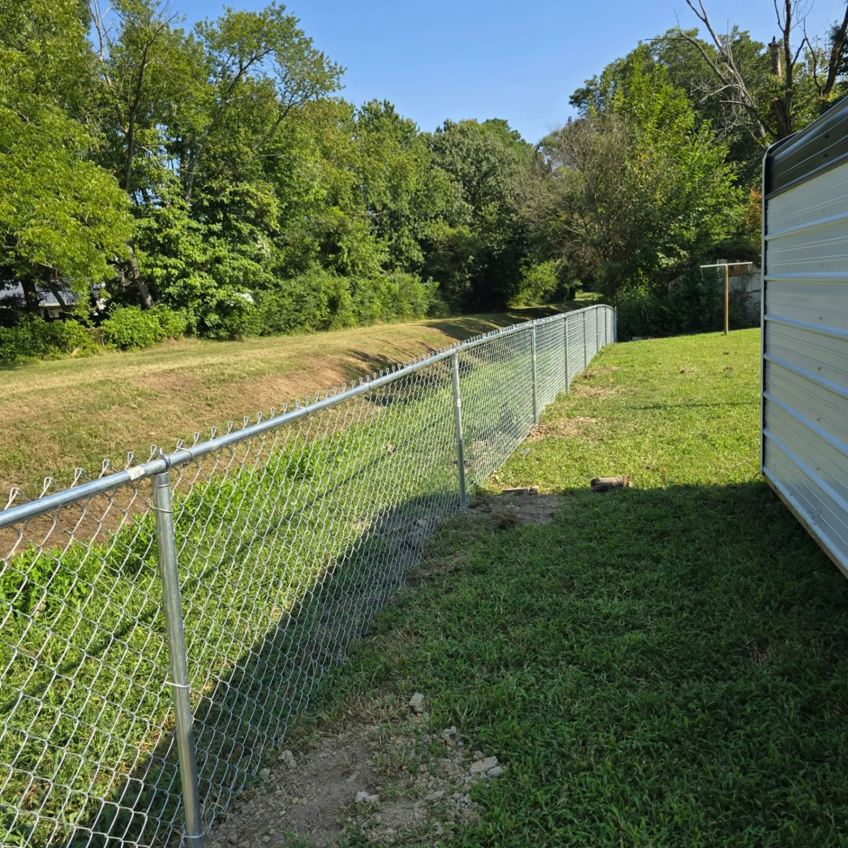
[[[555,310],[413,321],[242,342],[181,339],[134,353],[0,369],[0,499],[12,486],[32,497],[44,477],[64,486],[75,467],[104,457],[146,460],[149,446],[240,423],[271,407],[365,373]],[[0,505],[2,506],[2,505]]]

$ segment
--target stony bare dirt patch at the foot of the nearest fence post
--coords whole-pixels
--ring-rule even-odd
[[[252,798],[216,822],[209,848],[284,845],[439,845],[485,812],[472,795],[505,773],[468,750],[455,727],[427,730],[413,712],[399,727],[326,737],[260,773]]]

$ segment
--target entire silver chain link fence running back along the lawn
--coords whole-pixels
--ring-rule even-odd
[[[203,845],[615,324],[599,305],[506,327],[63,491],[13,490],[0,842]]]

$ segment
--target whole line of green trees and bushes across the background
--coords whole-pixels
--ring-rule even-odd
[[[634,332],[705,328],[697,265],[756,259],[762,153],[845,92],[848,13],[810,36],[784,0],[766,45],[689,6],[698,29],[608,65],[533,145],[347,102],[276,3],[186,28],[159,0],[0,0],[0,356],[61,345],[40,292],[123,347],[575,287]]]

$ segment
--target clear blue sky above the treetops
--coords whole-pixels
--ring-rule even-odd
[[[229,0],[261,8],[265,0]],[[728,21],[761,41],[778,32],[771,0],[706,0],[716,28]],[[220,14],[208,0],[170,0],[187,23]],[[639,39],[697,23],[684,0],[291,0],[315,46],[347,70],[343,96],[388,99],[432,130],[445,118],[505,118],[530,142],[563,123],[568,96]],[[843,14],[817,0],[812,32]]]

